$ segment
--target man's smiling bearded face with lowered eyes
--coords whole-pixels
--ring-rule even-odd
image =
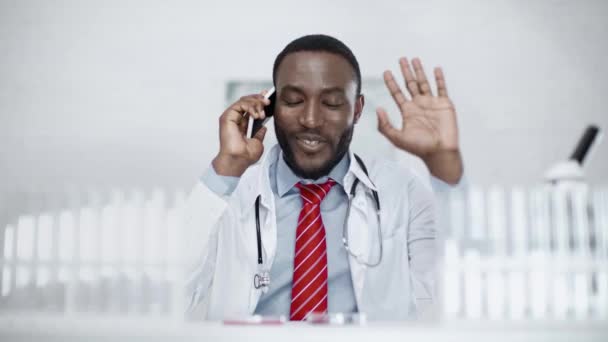
[[[304,179],[328,175],[345,157],[361,116],[361,76],[347,56],[304,50],[277,58],[277,140],[289,168]]]

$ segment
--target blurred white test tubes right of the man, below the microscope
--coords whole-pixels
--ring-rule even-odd
[[[608,319],[607,188],[471,187],[441,204],[446,318]]]

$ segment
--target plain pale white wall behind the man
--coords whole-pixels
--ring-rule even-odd
[[[532,183],[608,127],[607,17],[601,0],[2,0],[0,185],[188,186],[217,150],[225,82],[269,79],[308,33],[342,39],[368,78],[401,55],[442,65],[471,181]]]

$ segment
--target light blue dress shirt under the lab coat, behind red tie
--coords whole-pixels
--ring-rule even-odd
[[[347,153],[328,176],[314,181],[314,183],[324,183],[329,177],[337,182],[321,202],[321,218],[325,226],[327,244],[328,311],[330,313],[357,311],[348,265],[348,253],[342,246],[342,227],[348,205],[343,180],[349,166],[350,158]],[[289,317],[296,225],[302,208],[302,199],[295,185],[300,181],[304,183],[313,181],[296,176],[283,160],[282,153],[271,164],[269,176],[275,197],[277,252],[270,269],[270,287],[268,292],[260,298],[255,313]],[[216,194],[229,195],[238,185],[239,178],[220,176],[212,166],[209,166],[201,177],[201,181]]]

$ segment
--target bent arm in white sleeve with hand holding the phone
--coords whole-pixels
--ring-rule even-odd
[[[228,198],[240,176],[262,156],[265,128],[253,138],[246,137],[248,118],[263,118],[263,95],[242,97],[220,116],[220,151],[194,186],[182,212],[186,316],[207,317],[209,293],[218,250],[218,237],[224,227],[234,224],[233,213],[226,210]]]

